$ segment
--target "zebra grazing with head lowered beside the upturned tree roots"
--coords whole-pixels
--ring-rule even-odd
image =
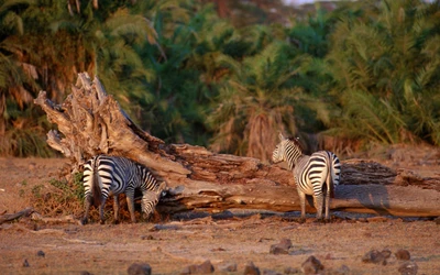
[[[81,220],[88,221],[90,206],[99,207],[101,223],[103,206],[110,195],[114,197],[114,223],[119,222],[119,195],[125,193],[131,221],[134,223],[134,189],[142,191],[142,211],[145,218],[154,211],[161,196],[166,189],[165,182],[158,184],[153,175],[143,165],[124,157],[97,155],[86,165],[82,177],[85,188],[86,213]]]

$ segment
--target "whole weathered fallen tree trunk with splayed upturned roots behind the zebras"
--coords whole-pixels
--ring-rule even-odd
[[[81,164],[96,154],[136,161],[170,187],[168,196],[160,204],[166,213],[216,212],[231,208],[299,210],[292,172],[256,158],[217,154],[189,144],[165,144],[142,131],[106,92],[98,78],[91,80],[87,74],[79,74],[72,94],[61,105],[47,99],[45,91],[41,91],[34,102],[43,108],[48,121],[57,124],[61,133],[50,131],[47,143],[72,160],[73,170],[80,169]],[[383,167],[376,169],[375,176],[373,169],[365,183],[369,174],[362,165],[344,163],[342,185],[337,189],[331,208],[396,216],[440,216],[438,190],[395,186],[397,173]],[[356,180],[363,184],[350,185]],[[415,196],[425,199],[415,201]],[[312,210],[309,207],[308,211]]]

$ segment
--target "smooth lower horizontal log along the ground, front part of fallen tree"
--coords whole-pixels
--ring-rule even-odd
[[[307,205],[307,212],[316,209]],[[341,185],[330,208],[358,213],[399,217],[440,216],[440,194],[415,186]],[[173,215],[182,211],[220,212],[228,209],[260,209],[278,212],[299,211],[296,188],[255,182],[246,185],[216,185],[193,182],[172,189],[172,196],[158,205],[158,210]]]

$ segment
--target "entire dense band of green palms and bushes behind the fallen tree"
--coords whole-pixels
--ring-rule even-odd
[[[0,0],[0,155],[54,154],[33,98],[80,72],[167,143],[440,144],[439,1]]]

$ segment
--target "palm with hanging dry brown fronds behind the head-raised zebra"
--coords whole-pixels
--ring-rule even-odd
[[[268,161],[278,131],[298,132],[295,107],[307,101],[294,81],[301,57],[288,44],[274,42],[230,65],[235,72],[208,117],[216,130],[213,150]]]

